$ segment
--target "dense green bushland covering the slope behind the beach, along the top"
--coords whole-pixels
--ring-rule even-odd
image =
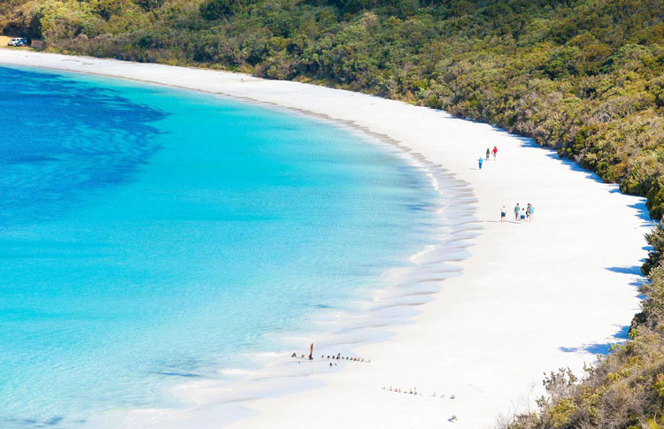
[[[660,0],[5,0],[47,50],[313,81],[531,136],[664,207]]]

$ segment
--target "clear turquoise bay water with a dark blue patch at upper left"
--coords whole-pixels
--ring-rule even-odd
[[[429,242],[424,175],[343,127],[122,80],[0,81],[0,427],[166,404]]]

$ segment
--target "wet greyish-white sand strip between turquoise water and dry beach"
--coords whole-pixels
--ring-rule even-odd
[[[1,65],[3,63],[0,63]],[[47,66],[30,65],[25,67],[27,70],[34,68],[47,73],[61,72],[81,76],[89,75],[91,77],[109,78],[109,76],[103,73],[71,72]],[[262,102],[253,98],[230,96],[228,94],[220,94],[196,88],[183,88],[181,86],[162,84],[149,80],[118,77],[110,77],[110,79],[127,80],[144,86],[194,92],[203,96],[220,96],[236,103],[249,103],[264,109],[302,116],[309,120],[320,121],[329,126],[343,128],[344,131],[357,135],[359,139],[358,144],[375,146],[382,152],[389,154],[390,157],[398,157],[406,165],[412,166],[418,171],[417,174],[422,174],[426,177],[431,188],[438,195],[435,205],[427,209],[419,209],[436,212],[434,219],[428,222],[428,226],[425,227],[425,229],[430,230],[430,234],[436,236],[433,244],[427,244],[424,249],[405,257],[404,264],[382,272],[376,280],[359,289],[358,296],[351,297],[349,301],[345,301],[344,305],[338,308],[335,307],[332,314],[326,313],[328,310],[318,310],[311,315],[310,325],[334,326],[331,332],[325,328],[313,330],[297,328],[289,332],[287,340],[281,341],[282,343],[293,342],[293,338],[297,339],[297,343],[300,346],[308,344],[311,341],[317,345],[322,343],[326,345],[323,349],[325,355],[330,353],[331,350],[335,350],[334,353],[338,353],[341,350],[341,354],[346,360],[352,360],[354,356],[353,350],[357,347],[375,342],[389,341],[389,328],[410,323],[411,318],[419,313],[418,310],[413,309],[423,303],[428,303],[433,299],[431,296],[435,295],[439,290],[437,282],[421,280],[422,272],[426,272],[426,270],[421,269],[418,260],[435,252],[437,249],[443,249],[442,256],[440,256],[441,260],[438,261],[439,264],[444,264],[450,257],[448,255],[450,249],[460,249],[461,253],[467,253],[464,250],[470,246],[467,243],[467,238],[474,236],[474,231],[479,229],[474,226],[467,227],[468,224],[475,224],[475,208],[472,204],[476,201],[475,195],[473,195],[472,189],[468,187],[467,183],[454,179],[441,165],[433,165],[425,157],[422,157],[421,154],[413,155],[412,149],[401,145],[400,142],[391,139],[387,135],[374,133],[367,128],[356,126],[351,121],[331,118],[328,115],[319,114],[314,111],[283,107],[277,103]],[[441,189],[444,189],[446,193],[452,196],[445,196],[441,192]],[[460,192],[464,196],[455,195],[457,192]],[[443,204],[442,201],[444,200],[450,200],[453,203],[467,203],[468,206],[464,205],[462,210],[448,213],[452,204],[449,204],[449,202]],[[418,226],[418,228],[421,227]],[[452,238],[453,235],[459,235],[459,237]],[[459,261],[463,259],[464,255],[457,253],[453,257],[455,258],[453,260]],[[406,262],[408,265],[405,265]],[[409,275],[410,272],[413,272],[413,275]],[[430,276],[444,280],[447,277],[460,275],[460,269],[452,265],[444,266],[442,272],[430,273]],[[414,277],[415,280],[411,279],[411,277]],[[422,287],[418,283],[423,283],[426,286]],[[371,316],[362,316],[364,312],[370,312]],[[282,337],[283,334],[274,333],[274,336]],[[263,350],[261,352],[241,354],[243,360],[247,363],[247,367],[220,367],[219,373],[222,374],[220,378],[181,382],[170,389],[171,395],[168,395],[169,397],[176,398],[175,401],[179,402],[181,407],[98,411],[82,427],[89,427],[91,429],[112,429],[119,426],[143,428],[155,425],[164,428],[187,427],[190,424],[190,418],[187,418],[186,422],[180,422],[181,416],[193,413],[193,418],[199,419],[200,417],[197,415],[198,409],[212,403],[218,411],[210,421],[213,419],[215,425],[229,425],[255,414],[243,406],[243,403],[248,401],[247,398],[279,397],[289,395],[289,393],[312,390],[321,385],[320,383],[306,382],[305,378],[307,375],[343,371],[344,366],[351,364],[344,361],[344,357],[342,357],[341,361],[332,360],[329,356],[324,360],[315,357],[313,362],[309,362],[308,359],[301,358],[300,356],[297,356],[295,361],[284,359],[284,357],[290,356],[291,351],[289,350]],[[316,347],[316,350],[317,353],[314,353],[314,356],[318,356],[318,353],[320,353],[318,347]],[[308,350],[306,353],[308,353]],[[302,355],[302,357],[304,356]],[[358,357],[358,362],[360,359],[364,361],[363,358]],[[293,365],[303,363],[305,365],[297,367]],[[335,363],[337,367],[328,369],[327,365],[330,363]],[[298,380],[293,381],[295,378]],[[238,399],[228,396],[225,394],[228,391],[233,391],[233,395],[241,391],[243,397]],[[185,406],[185,404],[193,405]],[[220,415],[223,415],[222,419],[218,417]],[[220,423],[220,421],[223,423]],[[205,425],[205,423],[197,420],[197,425]]]

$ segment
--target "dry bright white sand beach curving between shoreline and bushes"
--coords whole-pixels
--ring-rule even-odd
[[[342,120],[389,138],[432,171],[441,165],[437,171],[472,190],[465,200],[450,200],[475,218],[467,224],[473,234],[464,235],[469,255],[444,257],[442,246],[415,258],[428,273],[418,281],[439,290],[417,307],[413,323],[388,328],[389,341],[352,349],[352,356],[370,364],[320,372],[319,362],[302,362],[313,365],[311,374],[292,383],[312,388],[249,398],[239,389],[226,392],[244,400],[244,418],[231,422],[210,399],[215,395],[198,394],[200,405],[190,410],[139,419],[151,427],[216,428],[230,422],[233,428],[487,428],[500,414],[532,407],[544,372],[568,366],[581,374],[583,363],[625,338],[638,310],[643,235],[650,226],[644,199],[622,195],[528,139],[443,111],[236,73],[19,50],[0,50],[2,64],[142,80]],[[479,170],[478,158],[494,145],[497,159]],[[536,220],[514,223],[515,203],[533,203]],[[500,223],[503,205],[507,221]],[[460,276],[429,276],[451,264]],[[308,353],[307,345],[298,353]],[[324,350],[318,354],[335,350],[317,347]],[[421,395],[390,387],[417,388]]]

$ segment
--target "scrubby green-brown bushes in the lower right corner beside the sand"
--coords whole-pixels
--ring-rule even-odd
[[[586,368],[581,382],[569,371],[553,372],[544,379],[547,395],[537,401],[539,410],[516,416],[502,429],[664,428],[664,264],[652,258],[661,256],[662,239],[659,225],[649,234],[656,249],[629,341]]]

